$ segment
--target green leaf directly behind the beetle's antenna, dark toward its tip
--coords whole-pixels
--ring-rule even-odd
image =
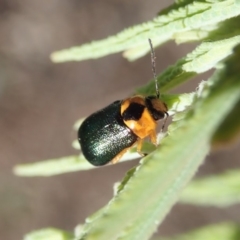
[[[240,43],[240,35],[225,40],[203,42],[175,65],[168,67],[158,76],[161,92],[167,92],[183,82],[215,67],[220,61],[232,54],[233,48]],[[137,93],[153,94],[154,80],[137,89]]]

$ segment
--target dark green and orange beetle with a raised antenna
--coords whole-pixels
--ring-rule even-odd
[[[155,67],[155,53],[152,42],[152,71],[156,95],[135,95],[118,100],[87,117],[78,130],[78,141],[84,157],[95,166],[109,162],[116,163],[122,155],[137,144],[141,155],[142,143],[146,137],[157,145],[157,121],[168,117],[167,105],[160,100]]]

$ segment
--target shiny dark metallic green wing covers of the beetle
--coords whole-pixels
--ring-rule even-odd
[[[95,166],[112,161],[138,139],[124,124],[120,110],[121,101],[115,101],[86,118],[78,130],[82,153]]]

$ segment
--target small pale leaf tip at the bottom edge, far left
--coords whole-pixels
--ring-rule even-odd
[[[24,236],[24,240],[73,240],[72,233],[56,228],[45,228],[33,231]]]

